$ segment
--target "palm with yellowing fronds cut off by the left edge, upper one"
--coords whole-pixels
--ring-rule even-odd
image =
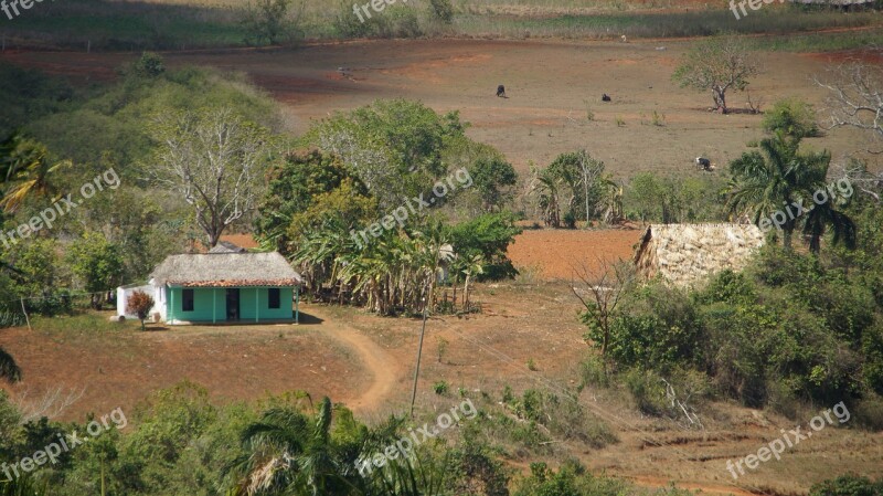
[[[49,149],[43,144],[21,134],[12,135],[0,145],[0,167],[6,182],[13,184],[0,199],[0,207],[12,212],[31,196],[54,197],[57,189],[52,178],[70,166],[70,160],[51,162]]]

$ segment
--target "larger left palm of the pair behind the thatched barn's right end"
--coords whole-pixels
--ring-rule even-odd
[[[754,222],[759,223],[796,200],[812,196],[820,168],[830,161],[830,155],[827,151],[799,154],[799,138],[787,138],[778,133],[760,141],[763,154],[743,154],[730,163],[733,179],[728,186],[727,208],[731,214],[751,213]],[[779,225],[786,249],[791,247],[798,222],[798,218],[786,215]]]

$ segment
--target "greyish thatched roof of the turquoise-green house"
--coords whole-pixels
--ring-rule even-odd
[[[297,286],[300,274],[277,252],[171,255],[150,275],[185,287]]]

